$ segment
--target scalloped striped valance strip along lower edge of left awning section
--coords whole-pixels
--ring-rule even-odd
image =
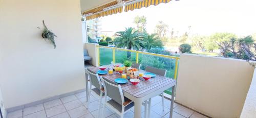
[[[93,14],[91,16],[87,16],[86,20],[98,18],[98,17],[101,17],[101,16],[112,15],[112,14],[116,14],[116,13],[121,13],[122,11],[123,11],[123,7],[115,8],[115,9],[112,9],[112,10],[109,10],[109,11],[102,11],[102,12]]]

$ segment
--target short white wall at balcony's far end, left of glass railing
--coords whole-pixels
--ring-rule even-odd
[[[98,61],[98,43],[84,43],[84,49],[87,49],[88,55],[92,57],[92,60],[90,61],[93,66],[99,66]]]

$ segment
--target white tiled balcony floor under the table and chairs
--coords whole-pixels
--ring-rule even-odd
[[[72,96],[10,112],[8,113],[7,118],[94,118],[98,115],[98,98],[99,97],[92,95],[89,108],[87,109],[86,92],[84,91]],[[161,101],[162,98],[160,96],[152,99],[150,117],[169,117],[170,101],[167,99],[164,100],[164,111],[162,110]],[[176,103],[174,107],[174,118],[205,118],[205,116]],[[120,117],[109,108],[106,108],[104,116],[108,118]],[[130,118],[133,116],[134,109],[124,114],[124,117]],[[141,116],[144,117],[144,109]]]

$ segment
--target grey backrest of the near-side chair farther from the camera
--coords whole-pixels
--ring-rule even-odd
[[[88,72],[88,75],[90,77],[90,83],[98,88],[99,90],[102,88],[102,84],[99,78],[98,74],[92,73],[89,69],[86,68],[86,71]]]

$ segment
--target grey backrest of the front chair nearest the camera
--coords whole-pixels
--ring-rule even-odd
[[[105,95],[122,105],[124,103],[124,97],[121,85],[105,79],[104,77],[100,77],[100,79],[105,89]]]

